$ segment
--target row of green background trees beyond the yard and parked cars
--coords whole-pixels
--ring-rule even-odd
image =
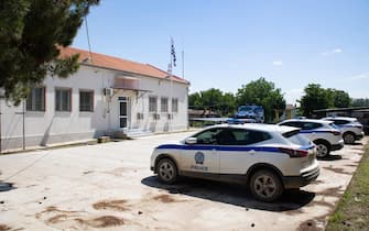
[[[319,84],[308,84],[304,95],[297,100],[297,116],[313,117],[314,110],[328,108],[369,107],[369,99],[352,99],[343,91],[333,88],[323,88]],[[286,108],[284,94],[274,82],[264,77],[242,85],[236,94],[223,92],[210,88],[188,96],[188,108],[204,111],[203,117],[232,117],[239,106],[257,105],[264,109],[265,122],[275,122],[275,112],[281,116]],[[209,113],[210,114],[206,114]]]

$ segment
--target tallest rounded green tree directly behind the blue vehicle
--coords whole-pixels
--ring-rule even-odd
[[[274,117],[274,110],[284,110],[285,100],[280,88],[274,84],[267,81],[263,77],[242,85],[236,95],[237,106],[259,105],[264,109],[265,121],[271,122]]]

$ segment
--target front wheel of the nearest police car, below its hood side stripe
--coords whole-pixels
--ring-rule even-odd
[[[177,178],[177,168],[170,158],[162,158],[156,166],[158,177],[162,183],[173,184]]]

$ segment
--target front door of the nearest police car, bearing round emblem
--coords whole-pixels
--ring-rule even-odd
[[[217,151],[217,134],[221,129],[214,128],[203,131],[193,138],[196,143],[187,144],[181,154],[182,170],[188,173],[219,173],[219,153]]]

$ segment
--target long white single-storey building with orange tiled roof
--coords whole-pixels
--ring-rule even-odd
[[[2,150],[22,147],[23,141],[37,146],[117,131],[187,129],[188,81],[149,64],[76,48],[62,56],[75,53],[82,64],[69,78],[46,77],[19,107],[1,99]]]

